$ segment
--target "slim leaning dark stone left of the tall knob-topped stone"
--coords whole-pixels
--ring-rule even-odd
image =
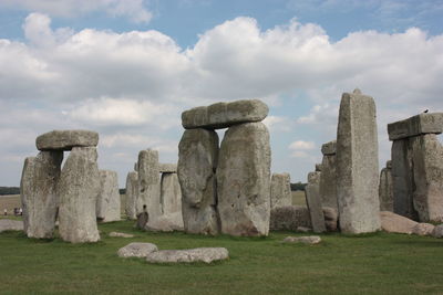
[[[320,171],[310,172],[308,175],[308,185],[305,188],[306,203],[311,217],[313,232],[326,232],[324,214],[320,198]]]

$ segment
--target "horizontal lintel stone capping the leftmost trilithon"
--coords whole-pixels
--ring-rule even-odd
[[[99,134],[90,130],[52,130],[37,137],[39,150],[71,150],[73,147],[95,147]]]

